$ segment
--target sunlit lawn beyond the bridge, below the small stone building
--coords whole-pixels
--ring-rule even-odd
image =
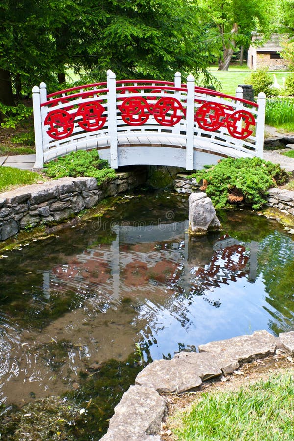
[[[221,88],[216,84],[216,89],[229,95],[235,95],[239,84],[246,84],[246,79],[249,80],[251,70],[245,67],[231,66],[228,71],[218,71],[216,67],[209,69],[210,73],[221,83]],[[278,83],[282,86],[283,77],[287,77],[291,72],[289,71],[274,71],[269,72],[274,82],[274,74]],[[201,81],[201,78],[200,78]]]

